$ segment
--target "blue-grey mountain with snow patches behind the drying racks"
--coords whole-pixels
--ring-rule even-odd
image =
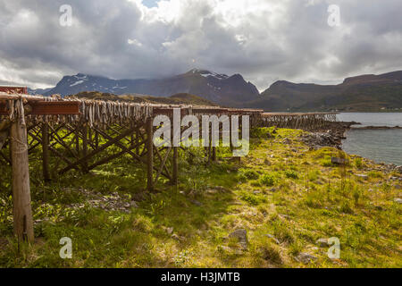
[[[32,90],[35,92],[36,90]],[[191,70],[164,79],[112,80],[105,77],[78,73],[65,76],[57,85],[43,92],[45,96],[74,95],[83,91],[98,91],[114,95],[143,94],[171,97],[186,93],[203,97],[220,105],[242,105],[259,96],[258,89],[240,74],[228,76],[213,71]]]

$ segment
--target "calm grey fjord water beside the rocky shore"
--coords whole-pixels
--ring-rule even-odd
[[[364,126],[402,126],[402,113],[342,113],[342,122],[360,122]],[[402,165],[402,130],[348,130],[342,149],[377,163]]]

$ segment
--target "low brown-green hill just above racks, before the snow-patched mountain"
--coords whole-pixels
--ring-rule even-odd
[[[202,97],[180,93],[172,97],[151,97],[144,95],[123,95],[117,96],[110,93],[101,93],[97,91],[84,91],[77,95],[69,97],[88,98],[94,100],[112,100],[123,102],[136,102],[136,103],[150,103],[150,104],[163,104],[163,105],[211,105],[215,104]]]

